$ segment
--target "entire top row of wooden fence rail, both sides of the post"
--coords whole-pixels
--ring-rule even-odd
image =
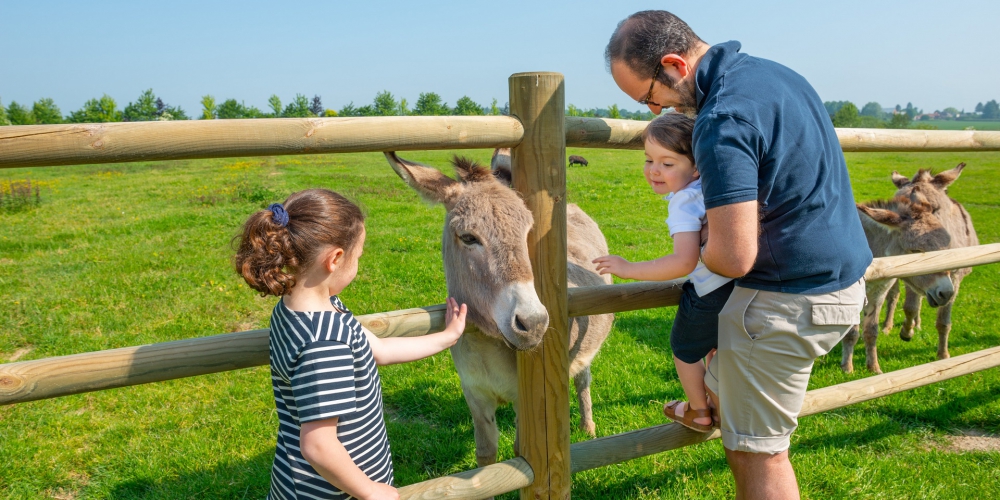
[[[642,149],[648,122],[566,117],[566,146]],[[509,116],[269,118],[0,127],[0,168],[365,151],[513,147]],[[837,129],[848,152],[1000,151],[1000,132]]]

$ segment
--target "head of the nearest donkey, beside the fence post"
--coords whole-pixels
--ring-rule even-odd
[[[469,305],[470,321],[484,334],[517,350],[538,346],[549,315],[535,293],[528,260],[533,219],[524,201],[499,174],[465,158],[452,161],[454,180],[393,152],[385,156],[411,188],[447,211],[441,249],[448,294]]]

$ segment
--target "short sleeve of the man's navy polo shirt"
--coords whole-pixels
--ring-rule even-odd
[[[765,147],[756,127],[731,115],[699,116],[693,149],[706,209],[757,199]]]

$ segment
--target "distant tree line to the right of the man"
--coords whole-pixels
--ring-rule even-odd
[[[877,102],[869,102],[860,110],[850,101],[827,101],[826,107],[835,127],[859,128],[937,128],[928,122],[931,120],[998,120],[1000,119],[1000,104],[994,99],[985,104],[976,105],[975,111],[966,112],[956,108],[945,108],[925,113],[906,103],[906,107],[896,105],[895,108],[883,108]],[[914,124],[916,122],[916,124]]]

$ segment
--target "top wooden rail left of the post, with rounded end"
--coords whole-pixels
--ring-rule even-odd
[[[509,116],[387,116],[0,127],[0,168],[362,151],[512,147]]]

